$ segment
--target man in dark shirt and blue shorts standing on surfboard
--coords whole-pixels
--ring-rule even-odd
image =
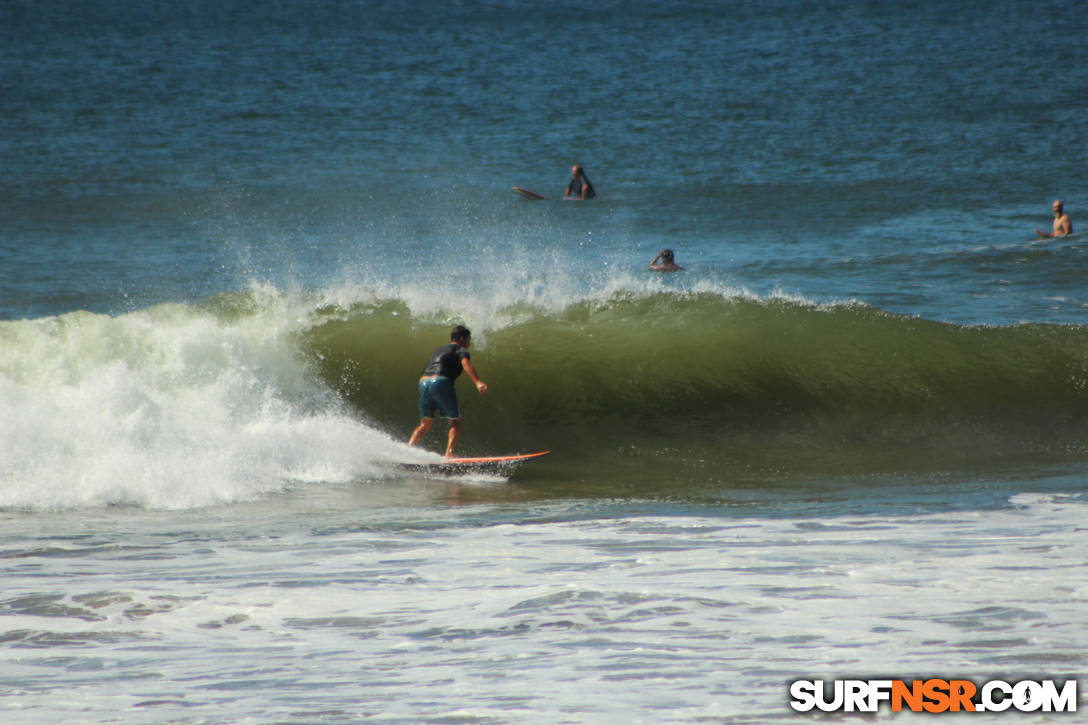
[[[461,409],[457,403],[457,390],[454,381],[461,370],[469,373],[481,393],[487,392],[487,384],[480,380],[472,360],[469,358],[469,345],[472,343],[472,332],[458,324],[449,333],[449,344],[434,351],[419,379],[419,426],[408,439],[408,445],[416,445],[434,425],[434,414],[441,413],[449,418],[449,437],[446,440],[446,457],[452,458],[457,439],[461,435]]]

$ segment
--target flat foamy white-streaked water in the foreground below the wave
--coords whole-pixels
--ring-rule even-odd
[[[793,715],[794,679],[1085,671],[1083,495],[889,516],[456,505],[502,486],[5,514],[4,720],[767,722]]]

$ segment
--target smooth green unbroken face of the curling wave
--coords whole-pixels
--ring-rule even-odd
[[[395,435],[454,318],[358,305],[302,332],[323,381]],[[459,382],[462,447],[553,448],[628,475],[820,472],[1081,457],[1088,331],[961,327],[862,305],[614,295],[504,310]],[[433,435],[433,433],[432,433]]]

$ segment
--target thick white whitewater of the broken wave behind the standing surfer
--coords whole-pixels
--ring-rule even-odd
[[[191,508],[378,475],[403,454],[313,380],[283,302],[0,323],[0,506]]]

